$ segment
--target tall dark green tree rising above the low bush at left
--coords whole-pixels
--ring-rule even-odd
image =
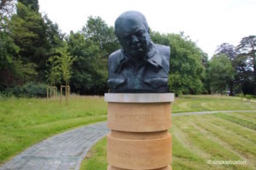
[[[47,15],[43,18],[23,3],[17,4],[17,14],[13,15],[11,26],[12,37],[20,47],[20,59],[24,63],[37,65],[38,81],[44,81],[42,77],[45,77],[47,70],[45,63],[50,56],[55,55],[55,48],[60,48],[63,41],[58,26]]]

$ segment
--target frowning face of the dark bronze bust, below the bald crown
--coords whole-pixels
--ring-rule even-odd
[[[126,54],[133,58],[142,58],[147,54],[150,37],[143,21],[125,20],[116,34]]]

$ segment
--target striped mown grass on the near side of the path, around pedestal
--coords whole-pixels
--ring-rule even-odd
[[[256,111],[172,117],[172,169],[256,169]],[[236,120],[236,121],[233,121]],[[247,123],[241,123],[247,122]],[[81,170],[105,170],[107,139],[94,145]],[[216,165],[207,161],[243,161]]]

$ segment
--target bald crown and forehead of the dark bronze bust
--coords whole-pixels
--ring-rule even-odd
[[[115,33],[119,36],[122,32],[131,31],[141,27],[148,31],[148,23],[143,14],[137,11],[128,11],[121,14],[117,20],[115,20],[114,28]]]

